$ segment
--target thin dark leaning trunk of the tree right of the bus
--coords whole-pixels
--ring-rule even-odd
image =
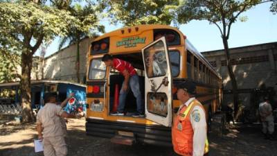
[[[233,87],[234,116],[236,116],[236,114],[238,113],[238,102],[239,102],[238,101],[238,85],[237,85],[237,80],[235,80],[235,75],[233,73],[228,40],[226,39],[226,37],[222,37],[222,41],[224,44],[224,51],[226,54],[227,68],[228,68],[229,76],[231,78],[231,84]]]

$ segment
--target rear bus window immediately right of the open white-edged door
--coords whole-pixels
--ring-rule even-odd
[[[180,53],[179,51],[170,51],[169,60],[171,63],[171,73],[172,77],[179,76],[180,73]]]

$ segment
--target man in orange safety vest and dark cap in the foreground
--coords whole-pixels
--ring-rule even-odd
[[[189,81],[178,86],[179,107],[172,125],[172,144],[179,155],[203,156],[208,153],[204,107],[194,98],[195,84]]]

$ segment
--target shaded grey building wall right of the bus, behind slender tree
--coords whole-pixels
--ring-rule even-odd
[[[277,42],[230,49],[233,72],[238,83],[242,104],[251,105],[253,89],[275,87],[277,83]],[[231,80],[223,50],[206,51],[202,55],[221,74],[224,84],[224,104],[232,101]]]

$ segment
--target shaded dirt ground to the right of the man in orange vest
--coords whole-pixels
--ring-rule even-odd
[[[264,139],[260,132],[260,125],[238,124],[229,128],[225,135],[220,137],[212,132],[210,140],[211,155],[257,155],[276,156],[277,141]]]

